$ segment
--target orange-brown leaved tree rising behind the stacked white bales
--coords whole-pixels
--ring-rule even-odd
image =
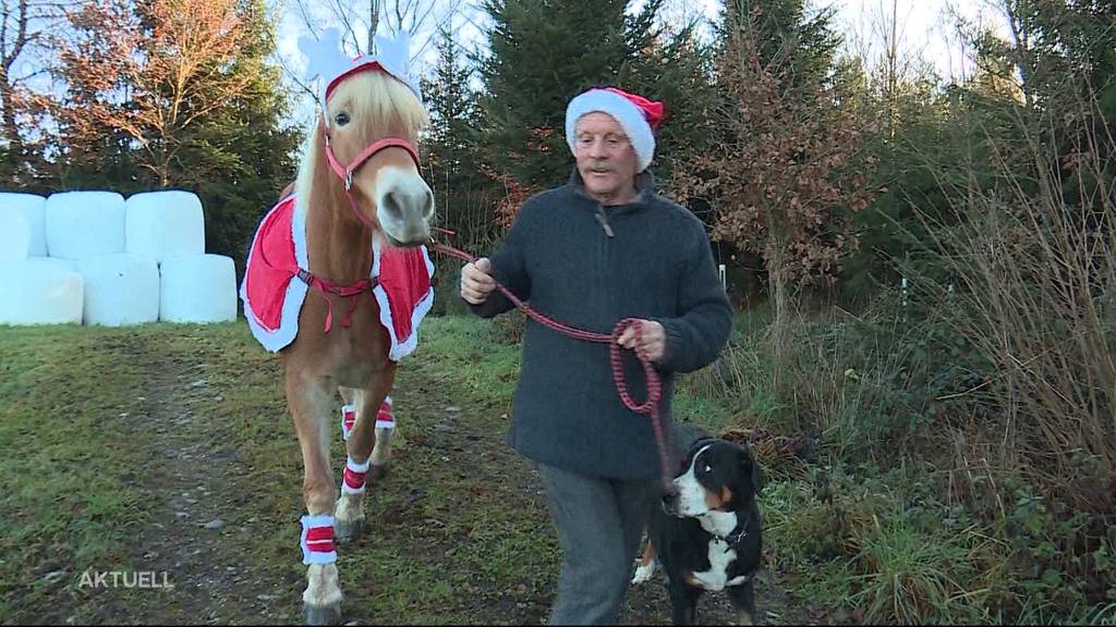
[[[251,86],[251,76],[225,71],[244,21],[235,0],[154,0],[143,16],[150,31],[140,19],[126,0],[70,11],[70,38],[55,39],[69,87],[58,110],[71,137],[128,136],[165,186],[189,133]]]

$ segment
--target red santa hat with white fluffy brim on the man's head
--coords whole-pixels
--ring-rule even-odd
[[[615,87],[593,88],[569,102],[566,107],[566,143],[575,149],[577,120],[594,112],[606,113],[624,128],[639,160],[639,172],[655,156],[655,131],[663,123],[663,103],[628,94]]]

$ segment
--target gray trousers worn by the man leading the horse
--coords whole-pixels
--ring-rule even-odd
[[[565,553],[550,625],[615,625],[658,482],[539,471]]]

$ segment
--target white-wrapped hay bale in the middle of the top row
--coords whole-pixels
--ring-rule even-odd
[[[124,252],[124,196],[61,192],[46,204],[47,254],[81,259]]]

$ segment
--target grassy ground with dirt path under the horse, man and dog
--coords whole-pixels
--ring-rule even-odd
[[[504,444],[518,348],[492,334],[431,319],[401,367],[392,474],[339,550],[345,620],[546,620],[560,556]],[[242,321],[0,328],[0,623],[301,620],[301,459],[278,361]],[[339,436],[334,453],[340,469]],[[666,620],[660,588],[631,620]]]

